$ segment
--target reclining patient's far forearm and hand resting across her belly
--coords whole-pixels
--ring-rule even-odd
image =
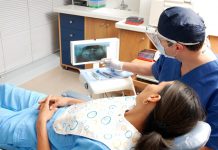
[[[41,104],[45,103],[46,100],[50,101],[49,103],[50,108],[63,107],[63,106],[84,102],[83,100],[79,100],[75,98],[61,97],[61,96],[48,96],[46,99],[39,102],[40,104],[39,109],[41,107]]]

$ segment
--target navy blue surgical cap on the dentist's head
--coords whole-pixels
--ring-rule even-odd
[[[159,18],[158,32],[162,36],[182,43],[199,43],[205,39],[203,19],[189,8],[170,7]]]

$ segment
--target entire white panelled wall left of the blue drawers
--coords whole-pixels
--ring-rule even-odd
[[[6,73],[59,49],[53,7],[71,0],[0,0],[0,73]]]

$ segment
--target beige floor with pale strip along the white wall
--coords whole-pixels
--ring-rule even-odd
[[[60,67],[58,53],[1,75],[0,83],[15,84],[46,94],[60,95],[66,90],[88,94],[79,81],[78,73]]]

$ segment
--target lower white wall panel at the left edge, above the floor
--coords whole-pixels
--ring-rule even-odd
[[[32,62],[29,31],[2,38],[5,70],[10,71]]]

